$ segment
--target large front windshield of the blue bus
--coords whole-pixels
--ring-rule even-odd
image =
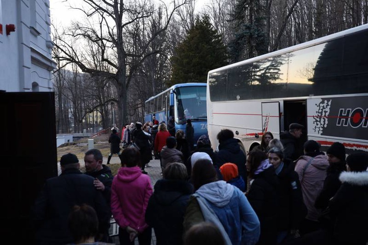
[[[207,121],[206,86],[178,87],[175,96],[175,121],[179,124]]]

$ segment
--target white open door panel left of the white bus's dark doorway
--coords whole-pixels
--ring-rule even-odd
[[[262,132],[279,134],[280,132],[280,103],[262,103]]]

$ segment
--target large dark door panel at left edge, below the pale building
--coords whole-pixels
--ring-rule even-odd
[[[2,234],[34,244],[31,207],[47,178],[57,176],[53,92],[0,93]]]

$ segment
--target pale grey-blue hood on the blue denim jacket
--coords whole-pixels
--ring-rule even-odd
[[[226,206],[234,193],[234,186],[223,180],[201,186],[196,193],[217,207]]]

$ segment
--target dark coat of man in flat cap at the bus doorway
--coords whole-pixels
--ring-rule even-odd
[[[289,131],[280,134],[281,143],[284,146],[284,159],[295,161],[303,155],[303,145],[300,139],[291,135]]]

